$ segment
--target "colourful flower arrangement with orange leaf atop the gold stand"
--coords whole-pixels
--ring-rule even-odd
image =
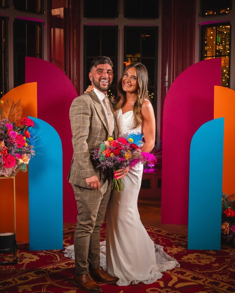
[[[21,100],[16,103],[8,98],[3,105],[0,100],[0,176],[14,176],[27,172],[27,165],[34,153],[34,122],[21,119]]]

